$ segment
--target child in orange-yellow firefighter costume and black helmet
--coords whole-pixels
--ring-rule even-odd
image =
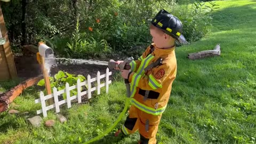
[[[122,70],[122,77],[131,83],[131,103],[124,125],[118,134],[132,134],[139,130],[140,144],[155,144],[158,125],[170,97],[177,73],[175,39],[185,42],[182,23],[165,10],[151,21],[153,43],[138,60],[130,63],[130,70]],[[118,61],[120,63],[123,61]]]

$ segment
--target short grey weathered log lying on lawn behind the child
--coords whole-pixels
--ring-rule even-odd
[[[196,59],[203,59],[206,57],[214,57],[214,56],[220,56],[220,44],[217,44],[213,50],[189,53],[187,58],[191,60],[196,60]]]

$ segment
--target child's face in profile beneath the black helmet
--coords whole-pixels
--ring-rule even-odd
[[[158,29],[150,29],[150,35],[152,36],[152,41],[155,43],[156,47],[162,49],[166,45],[166,36],[163,31]]]

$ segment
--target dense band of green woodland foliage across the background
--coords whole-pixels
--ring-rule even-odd
[[[180,18],[187,40],[197,41],[209,32],[211,13],[217,6],[191,6],[194,1],[188,0],[24,1],[13,0],[2,6],[13,49],[24,44],[24,39],[25,44],[34,45],[43,40],[58,57],[84,59],[116,53],[124,57],[134,46],[146,48],[151,43],[149,21],[160,9]],[[26,9],[20,9],[22,6]]]

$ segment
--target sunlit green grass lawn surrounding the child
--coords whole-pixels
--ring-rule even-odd
[[[213,13],[212,33],[176,50],[178,73],[159,125],[159,143],[256,142],[256,2],[234,0],[217,4],[220,9]],[[210,50],[216,44],[221,46],[220,57],[195,61],[186,58],[188,53]],[[4,87],[0,90],[8,89]],[[61,114],[68,122],[57,123],[51,129],[44,125],[33,128],[26,122],[40,107],[34,104],[35,98],[38,92],[32,87],[14,100],[19,107],[11,105],[28,111],[28,116],[0,114],[0,143],[87,141],[106,130],[121,113],[125,85],[113,83],[109,94],[95,96],[90,105],[62,108]],[[57,119],[54,111],[44,118],[47,119]],[[119,139],[114,138],[113,132],[95,143],[135,144],[139,139],[138,133]]]

